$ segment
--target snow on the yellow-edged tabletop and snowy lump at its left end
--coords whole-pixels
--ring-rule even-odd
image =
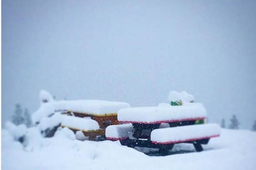
[[[120,109],[129,108],[124,102],[103,100],[73,100],[55,101],[49,92],[41,90],[39,93],[40,107],[32,114],[32,122],[39,123],[43,118],[50,117],[54,113],[66,111],[86,113],[93,115],[116,114]]]

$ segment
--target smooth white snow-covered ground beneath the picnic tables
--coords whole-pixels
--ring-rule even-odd
[[[3,170],[254,170],[256,167],[256,132],[248,130],[222,129],[220,137],[212,138],[208,145],[203,145],[203,152],[194,152],[191,144],[180,144],[164,157],[146,155],[121,146],[119,141],[75,140],[66,128],[53,138],[36,136],[36,131],[34,128],[28,132],[29,140],[24,148],[13,140],[7,130],[2,130]],[[174,154],[180,150],[186,153]]]

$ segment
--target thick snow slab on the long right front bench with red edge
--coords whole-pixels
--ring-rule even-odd
[[[217,124],[178,126],[174,128],[155,129],[151,132],[153,143],[168,144],[194,141],[220,135]]]

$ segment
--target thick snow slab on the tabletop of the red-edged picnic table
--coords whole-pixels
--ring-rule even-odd
[[[166,123],[172,121],[204,119],[206,109],[201,103],[184,103],[182,106],[135,107],[118,111],[117,118],[127,123]]]

